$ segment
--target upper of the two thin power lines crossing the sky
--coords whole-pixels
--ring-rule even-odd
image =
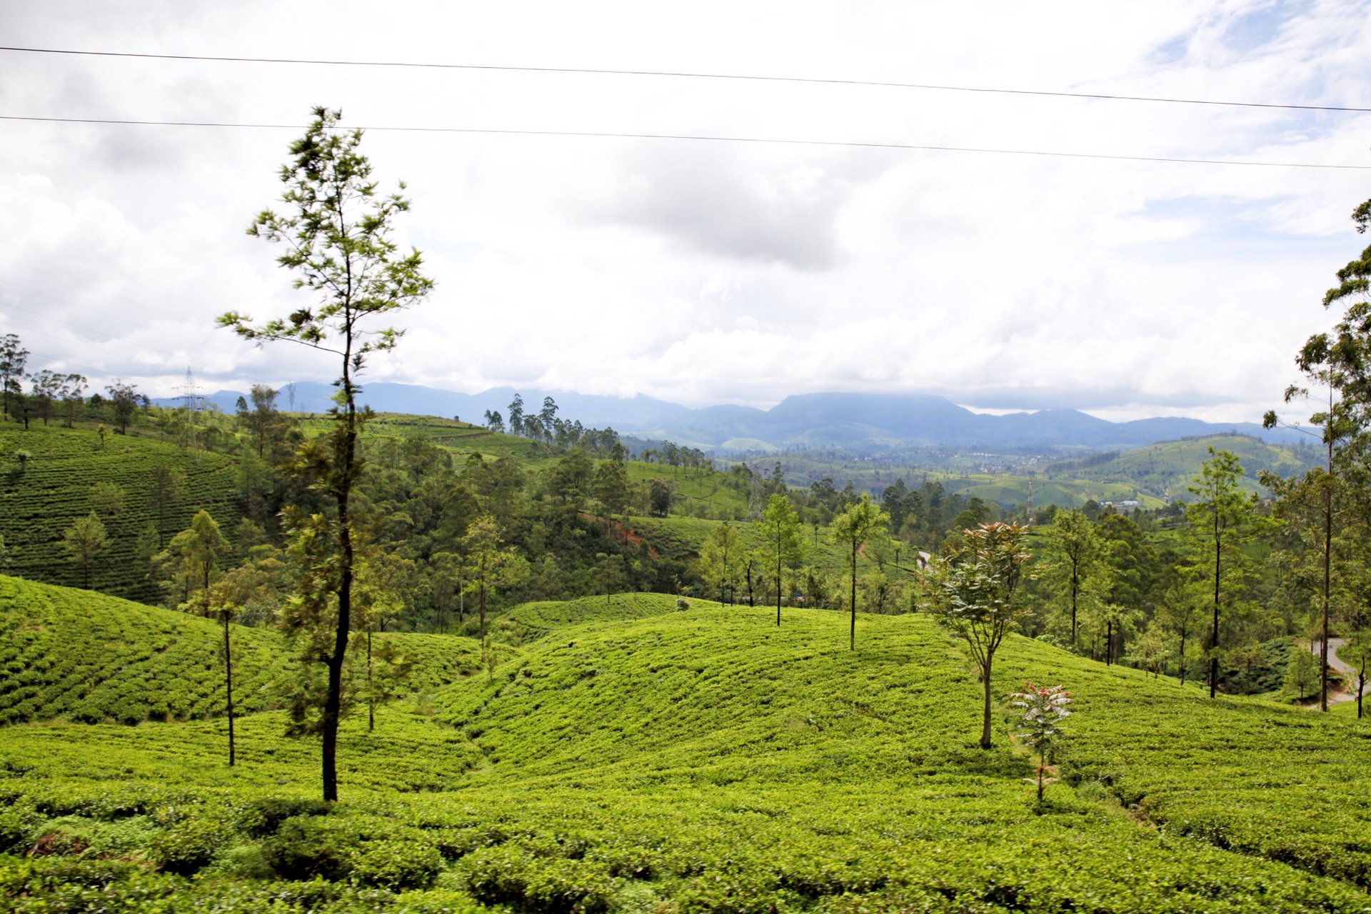
[[[73,51],[67,48],[12,48],[0,45],[0,51],[21,53],[52,53],[86,58],[138,58],[144,60],[208,60],[217,63],[289,63],[329,67],[404,67],[414,70],[494,70],[499,73],[568,73],[611,77],[666,77],[677,79],[736,79],[746,82],[798,82],[809,85],[877,86],[884,89],[925,89],[934,92],[975,92],[986,95],[1023,95],[1050,99],[1090,99],[1097,101],[1153,101],[1160,104],[1200,104],[1226,108],[1275,108],[1281,111],[1338,111],[1368,114],[1371,108],[1356,108],[1327,104],[1279,104],[1274,101],[1228,101],[1219,99],[1172,99],[1167,96],[1106,95],[1098,92],[1047,92],[1042,89],[1005,89],[997,86],[954,86],[932,82],[884,82],[877,79],[835,79],[821,77],[768,77],[740,73],[691,73],[677,70],[610,70],[602,67],[521,67],[481,63],[421,63],[410,60],[330,60],[299,58],[229,58],[195,53],[136,53],[129,51]]]

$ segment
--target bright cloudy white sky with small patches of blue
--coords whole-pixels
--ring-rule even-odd
[[[0,44],[1371,107],[1368,3],[0,4]],[[328,381],[215,315],[313,303],[248,237],[313,106],[344,125],[1371,166],[1371,114],[687,77],[0,51],[0,333],[171,395]],[[291,126],[296,125],[296,126]],[[1367,243],[1371,170],[372,130],[436,281],[366,378],[691,407],[932,392],[1256,421]],[[1294,418],[1300,418],[1296,415]]]

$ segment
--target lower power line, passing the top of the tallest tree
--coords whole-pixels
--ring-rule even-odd
[[[302,123],[230,123],[223,121],[136,121],[132,118],[38,118],[25,115],[0,115],[0,121],[29,121],[37,123],[104,123],[152,127],[232,127],[252,130],[303,130]],[[498,130],[489,127],[396,127],[359,126],[356,130],[378,130],[392,133],[465,133],[515,137],[588,137],[607,140],[691,140],[699,143],[751,143],[769,145],[835,147],[849,149],[905,149],[920,152],[980,152],[990,155],[1027,155],[1057,159],[1105,159],[1111,162],[1165,162],[1172,164],[1241,164],[1267,169],[1338,169],[1367,171],[1371,164],[1335,164],[1323,162],[1257,162],[1250,159],[1187,159],[1180,156],[1108,155],[1102,152],[1057,152],[1050,149],[999,149],[990,147],[943,147],[912,143],[856,143],[849,140],[786,140],[772,137],[723,137],[690,133],[610,133],[598,130]]]

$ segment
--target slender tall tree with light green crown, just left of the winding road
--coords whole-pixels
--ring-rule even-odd
[[[1209,629],[1209,697],[1219,689],[1219,607],[1223,599],[1223,576],[1241,563],[1241,545],[1252,521],[1256,496],[1242,493],[1238,481],[1242,463],[1231,451],[1209,447],[1209,459],[1200,467],[1194,485],[1187,486],[1198,496],[1186,507],[1193,536],[1208,543],[1213,569],[1213,618]]]

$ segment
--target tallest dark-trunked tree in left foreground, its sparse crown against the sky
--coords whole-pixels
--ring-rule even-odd
[[[433,281],[422,274],[418,249],[402,255],[391,240],[395,218],[410,208],[410,201],[400,193],[377,195],[372,163],[359,151],[362,132],[340,130],[341,116],[340,111],[314,108],[313,123],[291,144],[292,159],[281,167],[282,201],[289,211],[278,215],[265,210],[248,227],[254,237],[285,244],[277,263],[296,271],[296,288],[314,292],[317,303],[259,325],[237,311],[219,317],[219,326],[245,340],[258,344],[287,340],[330,352],[340,360],[341,374],[335,381],[337,392],[329,410],[333,430],[302,447],[295,465],[302,477],[332,496],[339,548],[337,613],[333,650],[325,660],[328,691],[319,728],[326,802],[336,800],[339,793],[337,726],[352,625],[356,556],[351,496],[362,474],[358,434],[365,421],[356,403],[356,377],[367,355],[393,349],[403,333],[391,326],[377,328],[374,321],[418,304],[433,288]]]

